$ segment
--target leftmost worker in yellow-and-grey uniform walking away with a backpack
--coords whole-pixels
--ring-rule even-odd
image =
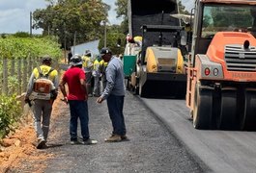
[[[57,88],[59,84],[57,70],[50,67],[51,58],[49,56],[45,56],[43,57],[42,62],[43,65],[34,68],[30,76],[27,92],[25,95],[25,103],[31,105],[31,109],[33,111],[34,128],[38,137],[38,149],[47,147],[46,141],[49,132],[52,104],[57,97]],[[47,80],[51,81],[50,86],[52,87],[49,90],[50,93],[40,93],[38,95],[38,92],[35,91],[35,87],[37,87],[35,86],[35,83],[36,80],[40,79],[42,76],[47,76]],[[43,83],[43,86],[45,86],[45,83]],[[43,89],[43,86],[39,86],[40,89]],[[43,94],[45,94],[45,98],[43,97]]]

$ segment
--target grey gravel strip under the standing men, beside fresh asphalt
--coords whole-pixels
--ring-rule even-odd
[[[45,161],[22,161],[22,169],[10,172],[208,172],[207,167],[182,145],[176,136],[159,122],[137,97],[127,93],[124,113],[129,141],[106,143],[112,128],[106,102],[96,103],[90,97],[90,135],[96,145],[71,145],[69,135],[69,107],[59,104],[59,116],[51,122],[49,147],[43,151],[52,154]],[[80,135],[80,130],[78,130]]]

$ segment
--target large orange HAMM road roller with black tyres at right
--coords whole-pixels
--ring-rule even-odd
[[[196,0],[186,106],[196,129],[256,130],[256,0]]]

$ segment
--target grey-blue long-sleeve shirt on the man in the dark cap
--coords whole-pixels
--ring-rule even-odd
[[[110,94],[123,96],[125,95],[125,81],[123,63],[120,59],[112,57],[106,67],[106,87],[101,95],[106,99]]]

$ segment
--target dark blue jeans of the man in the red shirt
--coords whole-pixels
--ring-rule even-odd
[[[71,123],[70,123],[70,134],[71,140],[77,140],[77,120],[80,120],[81,135],[84,140],[88,139],[89,136],[89,115],[87,101],[80,100],[69,100],[70,111],[71,111]]]

